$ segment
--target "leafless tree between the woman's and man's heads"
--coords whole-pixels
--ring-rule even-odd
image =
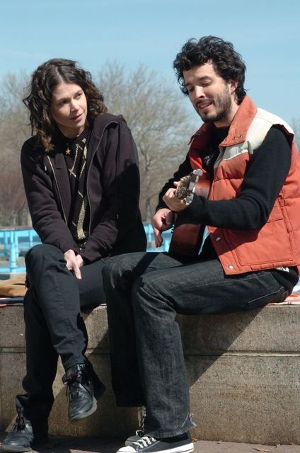
[[[143,65],[129,71],[108,62],[97,81],[110,113],[122,113],[132,130],[139,152],[141,211],[150,222],[159,191],[185,158],[195,119],[175,81]]]

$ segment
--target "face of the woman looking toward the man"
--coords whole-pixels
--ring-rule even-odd
[[[77,137],[86,125],[88,105],[82,88],[62,83],[52,91],[51,113],[65,137]]]

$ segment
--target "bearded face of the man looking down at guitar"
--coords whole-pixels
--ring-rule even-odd
[[[183,76],[190,101],[202,120],[217,127],[228,126],[238,110],[234,98],[237,82],[224,81],[211,63],[183,71]]]

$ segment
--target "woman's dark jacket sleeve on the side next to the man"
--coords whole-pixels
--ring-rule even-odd
[[[124,119],[118,127],[110,127],[106,146],[108,155],[101,177],[107,209],[81,249],[80,254],[88,263],[108,256],[116,241],[122,241],[139,216],[137,147]]]

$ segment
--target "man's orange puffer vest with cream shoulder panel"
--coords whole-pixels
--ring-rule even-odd
[[[281,125],[290,137],[292,164],[267,223],[252,231],[208,226],[209,236],[227,275],[282,266],[297,266],[300,274],[300,156],[294,134],[286,122],[256,108],[248,96],[239,106],[229,134],[219,145],[220,155],[214,164],[209,200],[239,196],[250,154],[262,144],[272,125]],[[195,134],[189,151],[192,168],[202,168],[198,152],[209,143],[211,131],[212,125],[204,123]],[[207,177],[202,170],[202,178]]]

